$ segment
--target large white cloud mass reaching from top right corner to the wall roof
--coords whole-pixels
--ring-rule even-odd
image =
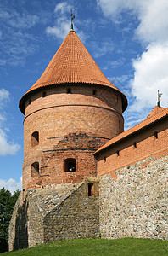
[[[143,119],[147,108],[156,105],[158,90],[163,93],[162,106],[167,107],[168,1],[97,0],[97,3],[104,15],[114,22],[122,22],[124,13],[137,17],[135,36],[147,45],[143,54],[137,54],[137,59],[132,61],[134,77],[129,84],[134,101],[129,110]]]

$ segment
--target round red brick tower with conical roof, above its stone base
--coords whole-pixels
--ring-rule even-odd
[[[23,190],[96,177],[93,153],[124,130],[126,96],[70,31],[40,79],[20,99]]]

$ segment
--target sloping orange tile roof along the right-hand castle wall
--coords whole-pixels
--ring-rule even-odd
[[[109,142],[105,143],[101,148],[98,148],[95,154],[100,153],[100,151],[104,150],[105,148],[113,146],[115,143],[119,143],[126,137],[131,136],[135,132],[142,130],[144,127],[148,125],[154,124],[157,120],[165,116],[168,116],[168,108],[154,107],[153,110],[148,114],[148,117],[144,119],[141,123],[133,126],[132,128],[120,133],[118,136],[109,140]]]

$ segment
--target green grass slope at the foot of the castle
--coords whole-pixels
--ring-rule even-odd
[[[122,256],[146,256],[168,255],[168,241],[147,240],[140,238],[107,239],[77,239],[36,245],[10,253],[2,253],[2,256],[98,256],[98,255],[122,255]]]

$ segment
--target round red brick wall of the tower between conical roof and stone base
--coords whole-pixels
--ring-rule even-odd
[[[71,84],[42,95],[34,93],[31,104],[30,99],[25,104],[23,189],[95,177],[93,153],[123,131],[120,94],[104,86]],[[76,159],[76,172],[64,172],[66,158]]]

